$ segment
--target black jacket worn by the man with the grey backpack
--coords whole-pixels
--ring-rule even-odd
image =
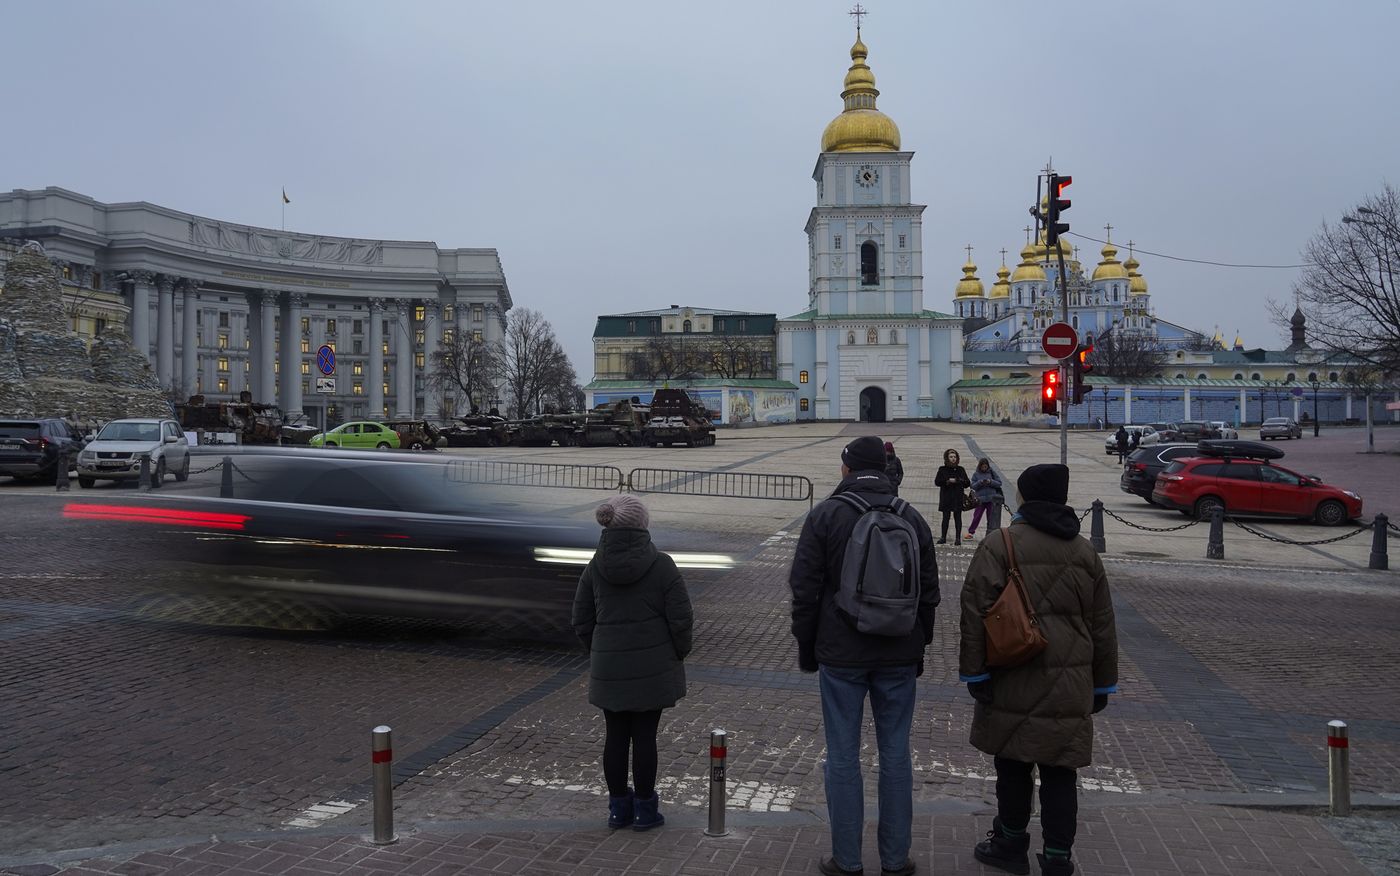
[[[871,504],[893,488],[883,472],[853,472],[836,487],[837,493],[857,493]],[[938,560],[934,533],[910,505],[904,518],[918,533],[920,599],[918,624],[903,638],[857,633],[836,612],[836,585],[846,560],[846,543],[855,529],[858,512],[837,500],[826,500],[808,515],[792,556],[788,585],[792,588],[792,635],[798,652],[813,652],[826,666],[871,669],[876,666],[913,666],[924,659],[924,648],[934,638],[934,610],[938,607]]]

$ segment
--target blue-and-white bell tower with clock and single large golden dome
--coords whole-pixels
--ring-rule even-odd
[[[924,309],[923,214],[913,153],[875,106],[860,28],[822,134],[806,220],[808,306],[778,320],[778,379],[798,388],[798,420],[951,417],[962,379],[962,318]]]

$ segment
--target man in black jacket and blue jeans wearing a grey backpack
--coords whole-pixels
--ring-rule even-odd
[[[861,873],[865,824],[861,721],[869,697],[879,750],[879,859],[909,876],[914,771],[909,730],[914,679],[934,638],[934,535],[885,474],[885,445],[865,437],[841,451],[841,483],[808,515],[788,575],[798,666],[818,672],[826,730],[827,875]]]

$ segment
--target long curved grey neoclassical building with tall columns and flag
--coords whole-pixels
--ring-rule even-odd
[[[0,193],[0,239],[43,243],[91,333],[126,311],[133,346],[182,395],[249,390],[315,424],[497,403],[426,379],[452,332],[504,337],[511,294],[494,249],[256,228],[52,186]],[[316,390],[322,344],[336,355],[330,392]]]

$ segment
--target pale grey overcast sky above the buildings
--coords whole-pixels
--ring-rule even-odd
[[[277,227],[286,185],[297,231],[494,246],[588,381],[598,313],[806,308],[850,6],[7,3],[0,186]],[[1400,182],[1397,0],[865,6],[932,309],[963,245],[1015,264],[1050,155],[1075,231],[1252,264]],[[1158,316],[1280,343],[1296,271],[1138,257]]]

